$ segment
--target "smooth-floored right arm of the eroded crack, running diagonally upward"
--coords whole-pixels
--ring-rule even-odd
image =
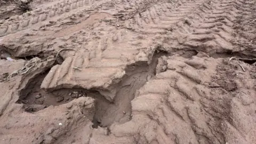
[[[96,111],[92,121],[93,128],[97,129],[98,126],[107,127],[114,122],[125,123],[130,121],[132,117],[131,101],[134,99],[137,90],[156,75],[158,58],[163,55],[167,56],[169,54],[158,51],[154,53],[149,65],[146,61],[139,61],[126,67],[121,82],[113,86],[116,89],[114,103],[98,99],[95,101]]]

